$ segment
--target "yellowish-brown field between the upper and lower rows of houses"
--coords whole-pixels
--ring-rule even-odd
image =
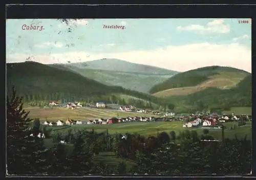
[[[112,118],[112,117],[133,117],[133,116],[146,116],[151,117],[153,115],[135,113],[135,112],[124,112],[120,110],[110,109],[90,109],[90,108],[78,108],[78,109],[67,109],[67,108],[39,108],[39,107],[24,107],[26,111],[30,111],[29,117],[39,118],[44,121],[46,119],[56,120],[67,120],[68,118],[74,120],[87,120],[87,119],[99,119],[99,118]]]

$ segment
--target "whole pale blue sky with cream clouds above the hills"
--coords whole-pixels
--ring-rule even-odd
[[[240,20],[249,23],[241,24]],[[251,19],[7,19],[6,62],[121,59],[184,72],[251,72]],[[104,25],[123,28],[103,28]],[[27,29],[29,28],[29,29]],[[30,29],[31,28],[31,29]]]

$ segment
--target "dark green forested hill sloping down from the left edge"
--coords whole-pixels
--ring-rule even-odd
[[[158,98],[151,95],[119,86],[104,85],[70,70],[65,70],[65,68],[57,69],[32,61],[7,63],[8,95],[10,95],[13,85],[19,95],[26,99],[88,99],[111,94],[126,94],[152,102],[159,102]]]

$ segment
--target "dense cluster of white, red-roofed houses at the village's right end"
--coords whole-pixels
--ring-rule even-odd
[[[237,121],[239,118],[245,118],[249,120],[251,116],[248,115],[218,115],[217,113],[212,113],[208,115],[191,115],[190,117],[184,117],[189,118],[189,122],[183,124],[183,127],[197,127],[197,126],[204,126],[204,127],[209,127],[209,126],[216,126],[219,123],[224,123],[226,121]]]

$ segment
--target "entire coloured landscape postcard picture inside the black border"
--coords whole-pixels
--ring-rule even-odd
[[[6,19],[6,175],[251,172],[251,19]]]

